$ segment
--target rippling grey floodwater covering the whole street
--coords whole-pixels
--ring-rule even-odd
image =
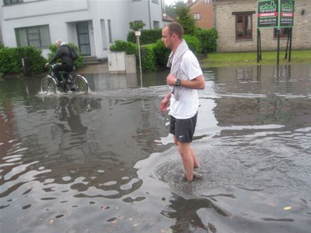
[[[166,74],[88,74],[87,95],[1,81],[1,232],[310,232],[311,65],[204,70],[192,183]]]

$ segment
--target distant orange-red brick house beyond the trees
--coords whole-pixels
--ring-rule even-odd
[[[214,4],[213,0],[188,0],[190,14],[196,19],[199,28],[214,28]]]

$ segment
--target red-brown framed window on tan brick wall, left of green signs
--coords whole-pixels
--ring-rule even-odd
[[[252,39],[252,14],[236,14],[236,39]]]

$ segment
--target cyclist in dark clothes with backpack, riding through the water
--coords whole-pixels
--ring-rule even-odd
[[[50,65],[50,63],[55,63],[55,61],[57,61],[57,59],[59,58],[62,60],[62,63],[55,65],[55,67],[53,68],[55,77],[57,77],[57,80],[59,82],[58,85],[62,86],[63,81],[59,72],[60,71],[66,71],[68,73],[72,72],[74,64],[73,59],[70,58],[70,51],[68,49],[67,43],[63,42],[61,39],[58,39],[55,43],[57,46],[56,54],[50,62],[46,63],[46,66]]]

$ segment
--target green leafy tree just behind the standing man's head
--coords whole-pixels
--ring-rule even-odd
[[[184,34],[196,35],[198,28],[196,27],[196,19],[191,16],[188,6],[178,6],[176,8],[177,21],[184,28]]]

